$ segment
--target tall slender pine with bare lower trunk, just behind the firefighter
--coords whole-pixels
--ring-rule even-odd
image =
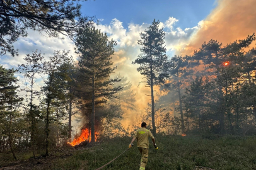
[[[151,115],[153,134],[156,134],[156,125],[154,121],[154,86],[158,86],[166,77],[163,74],[163,65],[167,62],[166,48],[163,46],[165,41],[165,32],[163,28],[159,28],[160,21],[153,21],[148,30],[141,33],[141,40],[138,44],[143,47],[140,49],[142,54],[132,62],[132,64],[139,64],[137,71],[146,77],[146,83],[151,88]]]

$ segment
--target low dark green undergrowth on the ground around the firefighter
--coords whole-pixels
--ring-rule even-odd
[[[50,162],[50,167],[42,169],[90,169],[94,170],[127,149],[130,137],[116,137],[105,140],[100,145],[83,150],[73,149],[73,156],[61,157]],[[256,137],[201,137],[163,136],[156,137],[159,149],[150,145],[147,170],[195,169],[256,169]],[[103,169],[134,170],[139,169],[141,156],[135,146]]]

